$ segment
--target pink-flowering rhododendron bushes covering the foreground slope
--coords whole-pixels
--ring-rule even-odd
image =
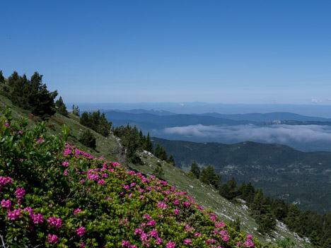
[[[262,247],[186,192],[47,136],[43,123],[29,131],[6,114],[0,125],[0,246]]]

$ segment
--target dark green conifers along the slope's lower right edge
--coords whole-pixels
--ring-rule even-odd
[[[211,184],[219,190],[219,194],[233,201],[242,199],[250,208],[251,215],[258,224],[258,231],[270,233],[277,228],[277,220],[285,223],[289,230],[301,237],[309,237],[314,247],[331,247],[331,213],[319,215],[315,211],[301,211],[295,204],[289,204],[284,199],[265,196],[262,189],[255,189],[251,182],[243,182],[238,187],[232,177],[228,182],[221,183],[221,176],[214,171],[214,166],[208,165],[200,170],[197,163],[192,163],[190,175],[202,182]],[[234,225],[239,225],[238,220]]]

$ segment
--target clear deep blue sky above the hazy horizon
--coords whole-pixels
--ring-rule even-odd
[[[331,104],[331,1],[0,8],[4,75],[38,71],[64,102]]]

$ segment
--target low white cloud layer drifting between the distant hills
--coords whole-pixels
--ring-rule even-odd
[[[264,143],[289,143],[331,141],[331,126],[175,126],[163,130],[165,134],[195,136],[224,141],[259,141]]]

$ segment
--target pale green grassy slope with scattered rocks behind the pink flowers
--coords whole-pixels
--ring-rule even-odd
[[[22,117],[25,117],[28,119],[29,125],[31,127],[35,124],[34,118],[29,117],[30,112],[13,106],[10,100],[0,95],[0,110],[3,110],[5,106],[11,108],[14,119],[18,120]],[[61,132],[62,123],[65,123],[70,127],[69,141],[73,143],[79,143],[78,138],[80,133],[86,129],[86,127],[79,124],[79,117],[75,117],[72,114],[69,114],[69,117],[64,117],[61,114],[55,114],[55,118],[49,120],[50,134],[59,134],[59,132]],[[120,146],[115,137],[110,136],[109,138],[105,138],[100,136],[100,134],[95,133],[94,131],[92,132],[97,138],[96,150],[91,150],[90,148],[84,147],[81,144],[79,144],[79,146],[84,148],[86,151],[89,150],[92,155],[103,156],[106,159],[112,161],[120,160],[118,155]],[[151,175],[154,168],[158,166],[158,158],[147,154],[141,154],[141,159],[144,161],[145,165],[129,166],[141,173]],[[277,228],[277,232],[274,232],[272,235],[273,237],[265,237],[260,235],[257,232],[257,224],[255,223],[255,220],[250,217],[248,210],[245,208],[245,205],[240,203],[231,203],[230,201],[220,196],[212,187],[209,187],[206,184],[202,184],[197,179],[188,177],[185,172],[173,167],[172,165],[169,165],[163,161],[161,161],[161,165],[163,171],[165,172],[163,179],[178,189],[187,191],[189,195],[192,196],[195,201],[197,201],[197,203],[201,204],[205,208],[211,208],[217,215],[219,215],[221,220],[224,220],[224,222],[229,223],[231,220],[238,216],[240,218],[242,230],[249,232],[262,242],[267,240],[275,241],[284,237],[291,237],[296,241],[296,247],[304,247],[305,242],[296,237],[296,235],[293,233],[288,232],[286,228]]]

